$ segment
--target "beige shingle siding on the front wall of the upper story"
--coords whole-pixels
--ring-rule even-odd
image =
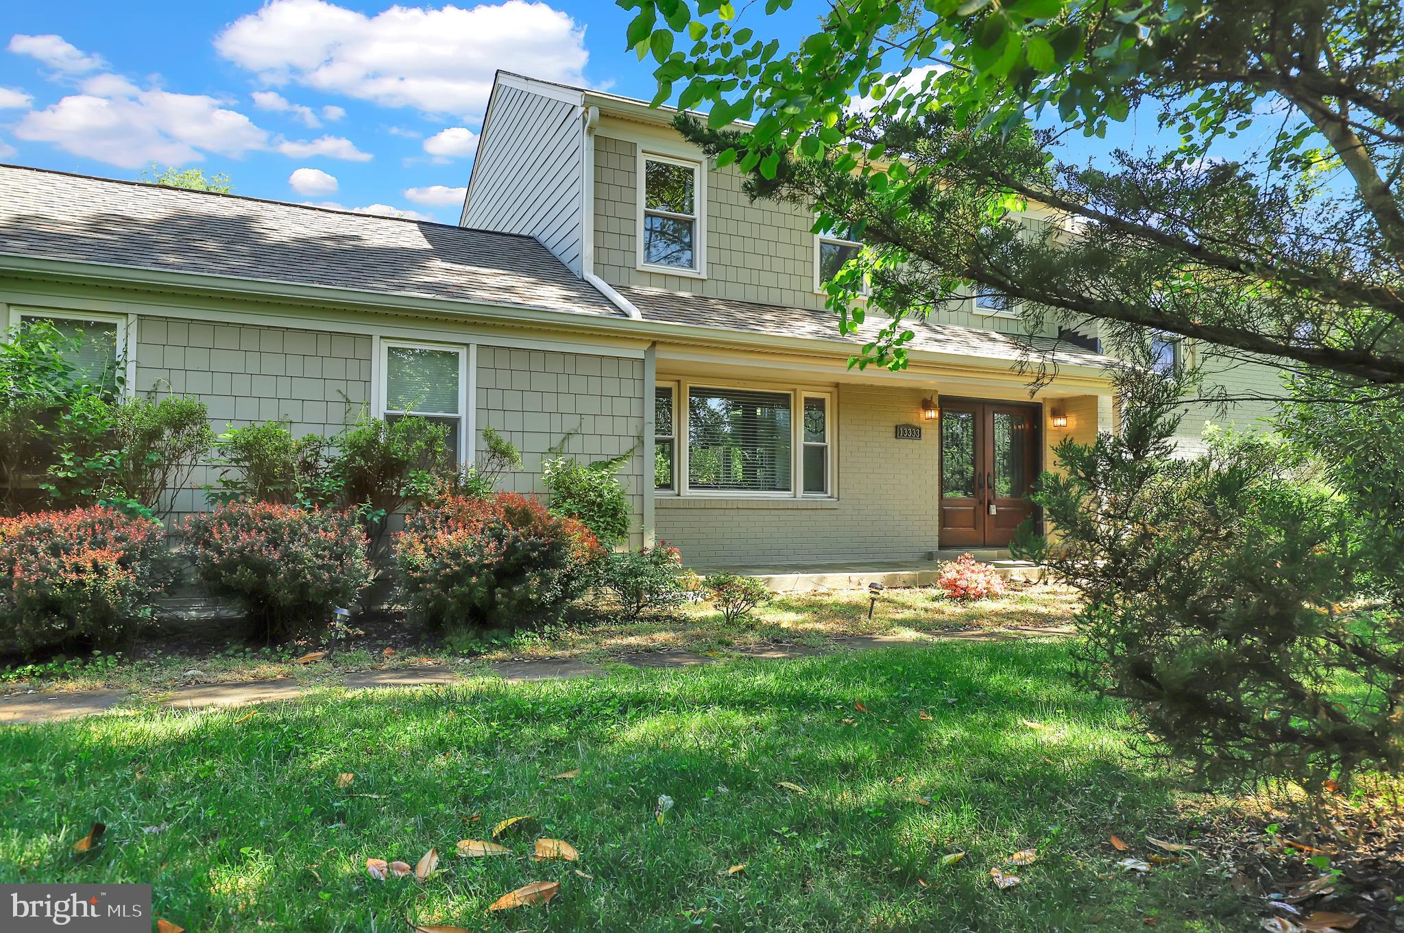
[[[741,177],[734,167],[708,168],[708,278],[640,272],[635,239],[637,152],[633,142],[595,136],[594,255],[600,278],[611,285],[694,292],[737,302],[824,307],[824,296],[814,292],[814,234],[810,231],[814,217],[790,203],[753,203],[741,191]],[[1018,320],[974,314],[970,300],[938,309],[931,320],[1022,333]]]

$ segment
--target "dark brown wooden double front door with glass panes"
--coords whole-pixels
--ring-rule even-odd
[[[1033,512],[1039,407],[941,400],[941,547],[1008,547]]]

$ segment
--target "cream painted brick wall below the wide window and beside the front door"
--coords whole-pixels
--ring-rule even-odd
[[[660,539],[694,567],[913,560],[936,547],[936,432],[897,441],[922,393],[840,386],[838,501],[657,497]]]

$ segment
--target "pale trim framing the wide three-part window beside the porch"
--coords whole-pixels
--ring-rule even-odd
[[[667,498],[692,499],[838,499],[838,400],[837,393],[827,387],[810,387],[795,384],[757,384],[739,383],[724,379],[706,379],[698,382],[660,379],[657,386],[671,386],[673,394],[673,490],[656,490],[654,495]],[[765,492],[747,490],[694,490],[688,485],[688,412],[684,405],[691,404],[692,389],[737,389],[744,391],[769,391],[788,394],[790,397],[790,490],[786,492]],[[824,400],[824,432],[827,438],[828,456],[826,469],[828,474],[827,492],[804,492],[804,400]],[[654,425],[657,431],[657,425]]]

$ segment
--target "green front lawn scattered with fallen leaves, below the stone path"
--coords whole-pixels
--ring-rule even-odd
[[[946,644],[0,730],[0,881],[152,881],[199,932],[1257,929],[1199,861],[1115,868],[1109,833],[1141,857],[1184,838],[1175,786],[1067,664]],[[578,864],[453,854],[526,814],[501,842],[563,839]],[[431,846],[424,884],[366,875]],[[548,908],[486,912],[538,880],[562,884]]]

